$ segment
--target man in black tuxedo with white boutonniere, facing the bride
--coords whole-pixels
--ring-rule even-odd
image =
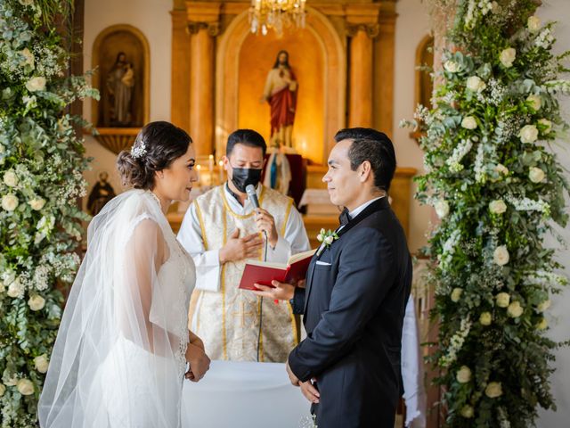
[[[313,402],[323,428],[393,427],[402,392],[403,315],[411,258],[403,228],[387,201],[395,172],[394,146],[374,129],[343,129],[330,152],[330,201],[346,207],[338,239],[322,244],[306,289],[275,282],[259,286],[290,298],[305,314],[307,338],[289,354],[291,383]],[[294,291],[293,291],[294,290]]]

